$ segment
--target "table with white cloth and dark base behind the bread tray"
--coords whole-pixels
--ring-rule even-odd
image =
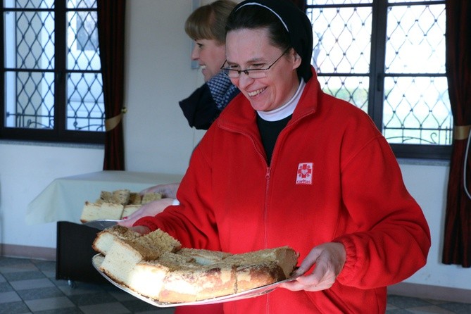
[[[57,222],[56,280],[106,282],[92,266],[92,243],[99,230],[82,225],[85,201],[96,201],[101,191],[139,192],[156,184],[180,182],[182,175],[130,171],[99,171],[61,177],[49,184],[27,208],[30,224]]]

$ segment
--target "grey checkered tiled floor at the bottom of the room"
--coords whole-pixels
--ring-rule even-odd
[[[156,308],[111,284],[56,280],[56,263],[44,260],[0,257],[0,314],[171,314],[172,308]],[[471,313],[471,303],[452,303],[389,296],[387,313]]]

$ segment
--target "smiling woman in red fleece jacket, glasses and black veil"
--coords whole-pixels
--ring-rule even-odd
[[[180,205],[135,230],[195,249],[299,251],[296,280],[224,313],[384,313],[386,287],[430,247],[389,144],[366,113],[322,92],[312,25],[290,1],[243,1],[226,29],[225,72],[241,95],[196,146]]]

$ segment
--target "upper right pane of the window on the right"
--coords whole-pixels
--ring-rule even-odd
[[[445,5],[391,6],[386,73],[445,73]]]

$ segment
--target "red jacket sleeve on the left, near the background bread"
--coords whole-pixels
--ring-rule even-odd
[[[178,206],[169,206],[154,217],[144,217],[134,223],[151,230],[157,228],[178,239],[182,246],[220,251],[218,228],[211,194],[211,163],[196,146],[187,173],[177,191]]]

